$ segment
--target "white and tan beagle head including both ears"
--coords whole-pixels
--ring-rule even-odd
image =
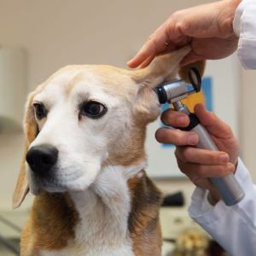
[[[64,67],[39,85],[26,103],[25,154],[14,207],[28,188],[34,195],[84,190],[108,162],[128,166],[143,161],[145,126],[160,113],[152,89],[176,77],[189,50],[162,55],[136,71]]]

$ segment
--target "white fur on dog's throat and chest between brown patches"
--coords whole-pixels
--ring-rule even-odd
[[[84,192],[71,192],[80,222],[75,227],[75,241],[61,251],[41,255],[133,256],[128,230],[131,209],[127,180],[139,173],[138,166],[106,166],[96,182]]]

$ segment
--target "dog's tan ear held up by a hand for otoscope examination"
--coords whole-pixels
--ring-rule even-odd
[[[159,114],[159,109],[156,108],[159,102],[156,96],[152,94],[154,87],[176,79],[178,73],[181,79],[189,82],[188,70],[190,67],[198,68],[202,75],[205,61],[197,61],[188,66],[180,67],[180,62],[185,55],[189,54],[190,50],[190,46],[185,46],[172,53],[160,55],[148,67],[138,69],[131,73],[131,78],[140,86],[135,110],[137,111],[137,115],[141,113],[140,116],[142,119],[146,119],[147,122],[153,121]]]

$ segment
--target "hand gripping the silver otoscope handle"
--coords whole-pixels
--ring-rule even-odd
[[[195,148],[198,137],[193,131],[181,131],[178,129],[160,128],[155,137],[160,143],[170,143],[177,146],[177,165],[196,186],[209,189],[211,201],[214,204],[219,200],[216,189],[208,181],[207,177],[224,177],[235,172],[238,160],[238,143],[229,125],[203,105],[195,106],[195,114],[210,133],[219,151],[210,151]],[[177,113],[171,109],[161,115],[163,123],[172,126],[187,126],[189,118],[184,113]]]

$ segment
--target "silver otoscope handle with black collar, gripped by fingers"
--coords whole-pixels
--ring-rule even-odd
[[[188,110],[187,110],[188,111]],[[190,124],[183,130],[195,131],[199,137],[198,148],[206,148],[209,150],[218,151],[212,137],[207,132],[206,128],[201,125],[200,120],[194,113],[189,113]],[[244,192],[240,184],[237,182],[234,174],[226,177],[211,177],[209,178],[213,186],[218,189],[218,193],[227,206],[234,206],[244,197]]]

